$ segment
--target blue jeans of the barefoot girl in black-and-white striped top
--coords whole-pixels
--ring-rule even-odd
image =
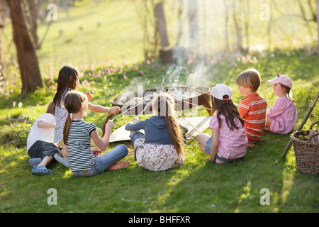
[[[117,145],[112,150],[104,153],[103,155],[99,155],[96,157],[96,165],[95,167],[88,170],[80,170],[80,171],[72,171],[74,176],[78,177],[91,177],[94,175],[98,175],[105,170],[107,170],[112,165],[116,164],[116,162],[123,159],[126,155],[128,155],[128,148],[125,145]]]

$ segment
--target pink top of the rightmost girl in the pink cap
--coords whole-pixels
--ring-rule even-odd
[[[267,110],[267,118],[272,118],[270,132],[286,134],[293,130],[297,121],[297,109],[295,104],[286,97],[281,97],[274,101],[274,106]]]

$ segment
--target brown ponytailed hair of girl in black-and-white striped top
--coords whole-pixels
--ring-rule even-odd
[[[67,144],[67,139],[69,138],[69,127],[71,126],[71,116],[70,114],[75,114],[79,111],[86,114],[86,109],[84,109],[85,101],[87,101],[87,96],[82,92],[70,91],[67,92],[65,99],[63,100],[63,106],[67,110],[67,120],[65,121],[65,128],[63,128],[63,143]]]

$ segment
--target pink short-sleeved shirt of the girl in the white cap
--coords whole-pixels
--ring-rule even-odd
[[[218,151],[217,155],[225,159],[236,159],[244,156],[247,151],[247,136],[245,133],[245,128],[238,119],[235,120],[238,129],[233,129],[233,131],[228,128],[225,116],[220,114],[221,126],[219,128],[217,114],[211,117],[209,122],[210,128],[215,128],[219,131],[218,137]]]

